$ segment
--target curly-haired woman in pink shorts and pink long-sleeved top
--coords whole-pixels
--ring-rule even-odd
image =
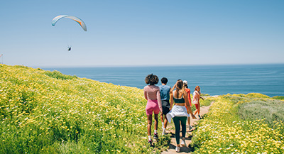
[[[155,86],[155,84],[158,84],[159,79],[157,75],[147,75],[145,78],[146,84],[149,84],[144,87],[144,97],[148,101],[146,105],[146,114],[148,119],[148,143],[152,145],[152,138],[151,138],[151,126],[152,126],[152,114],[154,112],[155,114],[155,125],[154,125],[154,138],[158,139],[158,114],[159,111],[163,113],[162,109],[162,101],[160,100],[160,88],[158,86]]]

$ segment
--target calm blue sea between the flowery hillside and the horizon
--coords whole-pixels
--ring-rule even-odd
[[[160,67],[42,67],[117,85],[146,86],[146,75],[167,77],[173,87],[178,79],[187,80],[193,91],[196,85],[210,95],[248,94],[257,92],[269,97],[284,96],[284,64],[279,65],[208,65]],[[160,85],[160,82],[158,83]]]

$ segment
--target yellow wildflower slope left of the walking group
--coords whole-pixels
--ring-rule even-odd
[[[159,153],[143,90],[0,65],[0,153]]]

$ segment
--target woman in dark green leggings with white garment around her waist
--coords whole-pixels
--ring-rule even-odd
[[[174,106],[173,102],[175,102]],[[185,143],[186,121],[187,117],[190,117],[190,115],[187,114],[187,109],[190,109],[190,103],[187,98],[187,92],[185,92],[185,87],[183,87],[182,80],[178,80],[175,83],[173,89],[170,89],[170,109],[171,110],[167,114],[167,118],[169,122],[170,119],[173,118],[173,122],[175,123],[175,140],[177,142],[175,150],[177,152],[180,152],[180,145],[187,146]],[[195,116],[192,114],[192,111],[190,111],[190,114],[192,115],[192,119],[196,119]],[[180,143],[180,123],[182,125],[181,143]]]

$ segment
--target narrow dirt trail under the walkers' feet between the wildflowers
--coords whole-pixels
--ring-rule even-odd
[[[201,106],[200,107],[200,116],[207,114],[209,111],[209,107],[210,106]],[[197,114],[196,114],[197,115]],[[191,126],[196,126],[197,125],[197,121],[199,121],[200,119],[197,116],[197,119],[192,119],[190,117],[190,125]],[[172,121],[173,123],[173,121]],[[162,154],[171,154],[171,153],[177,153],[175,152],[175,145],[177,145],[176,141],[175,141],[175,126],[173,126],[173,124],[169,125],[169,128],[167,128],[167,133],[171,133],[171,141],[170,141],[170,147],[167,151],[163,151]],[[193,128],[195,129],[195,128]],[[181,132],[180,132],[180,136],[181,136]],[[190,136],[190,137],[189,137]],[[192,132],[189,131],[188,129],[188,124],[187,124],[187,133],[185,135],[185,143],[187,144],[187,147],[180,147],[180,153],[190,153],[193,151],[192,148],[190,148],[188,145],[190,145],[191,141],[191,136],[192,136]],[[181,141],[181,139],[180,139]]]

